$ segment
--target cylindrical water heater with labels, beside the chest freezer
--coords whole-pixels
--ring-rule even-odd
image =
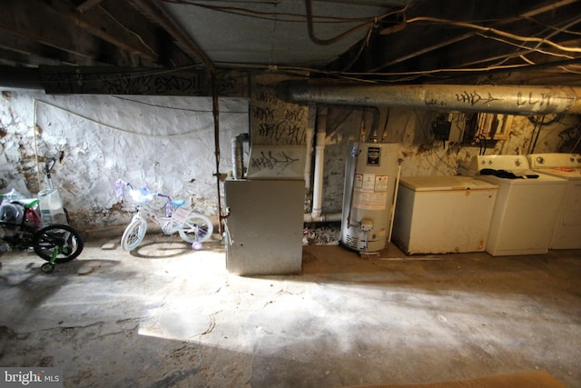
[[[341,244],[359,252],[386,247],[398,184],[395,143],[351,143],[345,166]]]

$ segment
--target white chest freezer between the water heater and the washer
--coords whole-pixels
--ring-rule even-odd
[[[497,184],[469,176],[404,176],[391,240],[405,254],[482,252]]]

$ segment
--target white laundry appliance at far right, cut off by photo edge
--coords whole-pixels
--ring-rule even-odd
[[[568,182],[549,249],[581,249],[581,154],[529,154],[530,168]]]

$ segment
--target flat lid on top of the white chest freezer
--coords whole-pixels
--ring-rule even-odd
[[[490,190],[497,189],[492,184],[471,176],[402,176],[399,184],[416,192],[454,191],[454,190]]]

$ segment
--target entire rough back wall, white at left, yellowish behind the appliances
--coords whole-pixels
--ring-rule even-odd
[[[42,161],[62,155],[54,167],[54,185],[73,224],[81,230],[129,220],[133,206],[120,203],[113,195],[117,178],[134,185],[160,184],[167,194],[191,201],[197,211],[218,214],[210,98],[44,95],[15,90],[2,93],[0,108],[0,191],[14,187],[37,193],[37,156]],[[272,109],[288,111],[286,105]],[[370,114],[348,107],[328,110],[323,213],[341,211],[348,144],[359,139],[362,117],[369,131]],[[387,109],[380,110],[379,134],[385,128],[387,141],[399,143],[402,175],[458,174],[458,168],[478,154],[475,146],[432,144],[429,128],[433,117],[434,112],[427,110],[393,108],[388,119]],[[222,174],[231,171],[231,139],[249,133],[250,120],[248,100],[220,99]],[[576,127],[569,135],[578,136],[577,124],[576,116],[565,116],[559,124],[544,127],[535,151],[565,151],[564,131]],[[312,136],[314,129],[305,125],[305,134]],[[536,134],[526,117],[516,117],[508,139],[497,142],[487,154],[524,154]],[[248,162],[247,153],[244,159]]]

